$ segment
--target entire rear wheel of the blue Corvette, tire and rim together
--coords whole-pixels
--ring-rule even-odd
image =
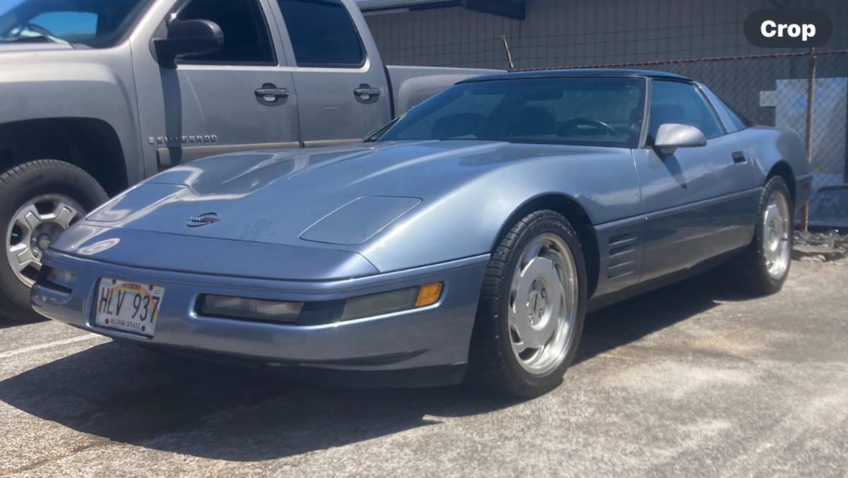
[[[792,264],[792,201],[783,177],[772,177],[760,196],[754,239],[722,267],[735,290],[752,295],[778,292]]]

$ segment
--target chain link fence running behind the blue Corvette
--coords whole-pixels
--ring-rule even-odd
[[[806,144],[808,160],[815,173],[814,191],[848,183],[848,49],[568,64],[561,61],[580,58],[570,53],[569,48],[592,53],[587,58],[603,59],[604,55],[592,50],[591,44],[562,45],[561,48],[549,44],[539,48],[537,42],[537,37],[491,35],[471,42],[445,41],[387,48],[385,54],[388,61],[403,64],[511,70],[636,68],[677,73],[706,84],[756,124],[798,132]],[[634,48],[638,50],[639,46]],[[656,54],[633,56],[657,57]],[[670,58],[676,56],[669,55]]]

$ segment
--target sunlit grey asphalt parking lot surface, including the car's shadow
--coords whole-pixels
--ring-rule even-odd
[[[587,319],[564,384],[344,390],[0,323],[0,475],[848,475],[848,262]]]

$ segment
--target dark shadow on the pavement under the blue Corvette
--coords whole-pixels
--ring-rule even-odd
[[[695,278],[594,312],[577,361],[716,306],[715,295],[709,278]],[[234,461],[339,447],[520,403],[464,387],[315,387],[114,342],[3,380],[0,400],[112,441]]]

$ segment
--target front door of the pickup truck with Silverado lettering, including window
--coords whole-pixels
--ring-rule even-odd
[[[152,58],[150,36],[134,40],[142,147],[146,157],[155,155],[155,169],[232,151],[300,145],[293,76],[281,66],[284,49],[271,35],[276,26],[264,2],[176,3],[153,38],[167,35],[169,18],[213,21],[225,37],[220,52],[178,59],[176,68]]]

